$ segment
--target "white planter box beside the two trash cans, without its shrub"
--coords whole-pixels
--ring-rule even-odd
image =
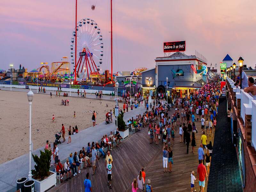
[[[52,171],[50,171],[52,172]],[[36,192],[43,192],[46,191],[47,189],[51,188],[52,186],[56,185],[56,173],[52,172],[49,177],[42,181],[38,181],[32,178],[32,180],[35,181],[35,191]]]

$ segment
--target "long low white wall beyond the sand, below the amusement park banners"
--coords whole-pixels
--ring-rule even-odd
[[[11,85],[6,85],[6,84],[0,84],[0,87],[11,87]],[[29,85],[28,86],[29,89],[37,89],[37,86],[31,86]],[[39,86],[38,86],[39,87]],[[26,86],[25,85],[12,85],[12,88],[21,88],[21,89],[25,89]],[[48,90],[48,91],[57,91],[58,88],[57,87],[44,87],[45,90]],[[98,92],[99,90],[94,90],[94,89],[79,89],[79,92],[85,92],[86,93],[96,93]],[[61,91],[62,92],[77,92],[77,89],[71,89],[71,88],[61,88]],[[112,93],[112,91],[105,91],[105,90],[102,90],[102,93],[103,94],[109,94],[109,93]]]

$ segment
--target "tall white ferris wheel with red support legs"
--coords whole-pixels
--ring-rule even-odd
[[[76,40],[76,62],[75,62],[75,36]],[[70,53],[72,64],[76,64],[78,76],[84,74],[87,77],[91,73],[98,73],[102,64],[103,43],[102,35],[97,23],[89,18],[84,18],[77,23],[76,34],[73,31]],[[74,69],[75,71],[75,69]]]

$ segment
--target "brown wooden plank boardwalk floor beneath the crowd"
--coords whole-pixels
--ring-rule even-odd
[[[173,109],[169,112],[172,114]],[[201,142],[201,125],[196,123],[198,133],[196,134],[196,148],[193,154],[191,144],[189,146],[189,154],[187,154],[187,146],[179,143],[179,132],[175,134],[175,144],[172,146],[173,161],[172,172],[163,172],[162,160],[162,142],[159,145],[149,144],[148,127],[143,128],[141,132],[130,135],[122,142],[119,148],[114,148],[110,153],[113,157],[112,171],[112,189],[107,185],[107,171],[104,166],[104,160],[101,158],[97,163],[97,172],[92,176],[92,168],[82,169],[82,172],[72,177],[71,180],[63,181],[63,183],[51,188],[49,191],[69,192],[84,191],[84,179],[86,173],[90,173],[89,179],[92,181],[93,191],[120,192],[131,191],[131,184],[134,178],[137,178],[139,170],[144,167],[146,172],[146,182],[151,180],[151,186],[154,192],[157,191],[189,191],[190,174],[196,170],[198,166],[197,149]],[[207,135],[207,143],[213,140]],[[66,178],[66,177],[65,177]],[[206,182],[207,183],[207,182]],[[196,190],[199,191],[198,181],[195,182]],[[207,184],[205,189],[207,188]],[[205,190],[206,191],[206,190]]]

